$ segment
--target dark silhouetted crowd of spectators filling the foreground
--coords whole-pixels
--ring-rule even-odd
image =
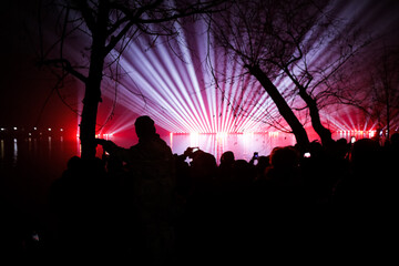
[[[149,116],[135,130],[136,145],[98,140],[109,155],[72,157],[52,185],[58,259],[283,264],[390,253],[399,134],[383,146],[313,142],[306,156],[275,147],[249,162],[226,151],[217,164],[192,147],[173,154]]]

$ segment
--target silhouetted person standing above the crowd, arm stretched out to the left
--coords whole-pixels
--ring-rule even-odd
[[[127,231],[133,232],[132,239],[140,239],[132,247],[135,257],[150,265],[160,265],[166,263],[174,247],[174,156],[171,147],[156,134],[150,116],[137,117],[134,126],[139,143],[130,149],[105,140],[98,140],[98,143],[110,156],[126,163],[129,170],[129,181],[124,183],[127,187],[123,191],[126,192],[126,209],[134,209],[134,214],[126,217],[136,227]]]

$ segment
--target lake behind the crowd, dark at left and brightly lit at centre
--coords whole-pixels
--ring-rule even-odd
[[[349,134],[337,134],[335,139]],[[173,153],[183,154],[187,147],[200,147],[213,154],[217,163],[225,151],[233,151],[236,158],[249,161],[254,152],[268,155],[275,146],[294,145],[295,137],[285,133],[247,134],[168,134],[162,139]],[[130,147],[134,140],[111,137],[117,145]],[[101,156],[101,149],[98,155]],[[48,192],[61,176],[71,156],[80,154],[76,137],[60,135],[37,137],[0,137],[0,207],[8,209],[13,219],[27,226],[51,227]],[[10,215],[11,216],[11,215]]]

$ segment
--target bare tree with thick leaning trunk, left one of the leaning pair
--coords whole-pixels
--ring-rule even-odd
[[[307,133],[274,83],[284,74],[275,61],[289,61],[296,49],[295,43],[286,41],[288,33],[282,30],[287,24],[283,11],[300,7],[290,7],[290,2],[232,1],[228,11],[211,17],[209,23],[216,43],[227,51],[232,60],[239,60],[246,70],[244,74],[256,78],[290,126],[299,146],[305,149],[309,143]]]

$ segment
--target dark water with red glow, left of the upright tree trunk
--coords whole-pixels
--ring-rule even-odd
[[[1,207],[7,206],[29,221],[48,223],[49,187],[60,178],[68,160],[78,155],[75,143],[76,140],[60,136],[1,137]]]

